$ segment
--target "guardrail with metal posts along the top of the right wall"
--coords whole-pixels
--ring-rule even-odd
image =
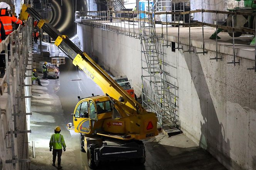
[[[149,10],[152,11],[152,10]],[[192,13],[201,13],[202,16],[202,21],[197,21],[195,23],[191,23],[189,20],[189,23],[181,23],[180,21],[178,22],[172,22],[172,21],[168,21],[167,20],[167,15],[178,15],[179,18],[181,17],[181,15],[189,15]],[[216,24],[211,24],[211,23],[205,23],[204,22],[204,13],[212,13],[213,15],[216,16],[216,20],[218,20],[218,16],[221,15],[227,15],[230,18],[228,19],[228,23],[226,25],[220,25],[218,24],[218,22],[216,22]],[[141,15],[143,14],[143,15]],[[156,16],[159,15],[166,15],[165,17],[165,21],[156,21]],[[189,27],[189,49],[191,48],[191,39],[190,39],[190,27],[192,26],[200,26],[202,27],[202,43],[203,43],[203,51],[200,52],[202,54],[206,54],[207,51],[205,51],[205,37],[204,37],[204,26],[210,26],[213,28],[216,28],[216,32],[211,36],[211,39],[214,39],[216,41],[216,56],[214,58],[211,58],[213,60],[218,61],[222,60],[221,57],[219,57],[218,55],[218,36],[217,34],[219,32],[221,32],[222,30],[227,30],[227,32],[229,33],[229,35],[231,35],[232,37],[232,46],[233,46],[233,58],[231,62],[227,62],[227,64],[234,64],[234,66],[236,64],[240,64],[240,60],[238,59],[237,61],[237,56],[236,56],[236,52],[235,52],[235,37],[238,35],[239,33],[248,33],[251,35],[256,35],[256,30],[253,29],[252,27],[256,27],[251,25],[251,28],[246,28],[244,26],[236,26],[236,17],[237,16],[246,16],[246,17],[253,17],[253,19],[255,20],[256,18],[256,13],[252,13],[252,12],[240,12],[240,11],[218,11],[218,10],[205,10],[205,9],[200,9],[200,10],[193,10],[193,11],[187,11],[187,12],[170,12],[170,11],[162,11],[162,12],[145,12],[145,11],[88,11],[88,12],[81,12],[81,13],[76,13],[76,22],[77,23],[82,23],[82,24],[86,24],[86,25],[91,25],[91,26],[95,26],[98,28],[101,28],[103,30],[109,30],[109,31],[114,31],[116,33],[120,33],[118,27],[121,27],[121,34],[122,35],[127,35],[127,36],[131,36],[134,38],[140,38],[137,37],[137,35],[140,35],[140,31],[135,31],[135,28],[138,28],[138,30],[140,30],[140,26],[141,26],[141,22],[143,23],[152,23],[153,25],[156,24],[160,24],[162,25],[162,36],[163,36],[163,32],[165,31],[163,28],[163,25],[165,25],[166,27],[166,35],[168,35],[168,29],[167,26],[168,25],[172,25],[172,26],[178,26],[178,50],[179,48],[179,35],[180,35],[180,26],[187,26]],[[136,16],[136,17],[135,17]],[[146,17],[143,18],[142,16]],[[228,18],[228,17],[227,17]],[[124,22],[124,24],[122,25],[121,22]],[[138,24],[136,25],[137,27],[135,27],[135,23]],[[254,22],[255,24],[256,22]],[[130,26],[131,25],[131,26]],[[142,24],[143,25],[143,24]],[[124,28],[122,28],[122,26]],[[126,27],[126,28],[125,28]],[[128,27],[128,28],[127,28]],[[131,28],[130,28],[131,27]],[[124,31],[122,30],[124,29]],[[128,31],[127,31],[128,30]],[[127,33],[127,34],[126,34]],[[235,35],[237,34],[237,35]],[[255,48],[255,64],[254,66],[252,66],[251,68],[248,68],[249,70],[254,70],[254,72],[256,72],[256,43],[255,43],[255,36],[253,41],[251,41],[251,45],[254,46]],[[168,44],[168,36],[167,36],[167,44]],[[192,50],[189,51],[185,51],[185,52],[191,52]]]

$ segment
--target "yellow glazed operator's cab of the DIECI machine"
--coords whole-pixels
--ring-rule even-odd
[[[92,96],[79,99],[74,114],[75,132],[96,134],[102,131],[104,119],[111,118],[113,106],[107,96]]]

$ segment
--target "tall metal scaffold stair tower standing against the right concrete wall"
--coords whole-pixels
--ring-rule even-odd
[[[148,12],[152,11],[148,9]],[[163,63],[162,48],[159,50],[160,37],[155,32],[152,14],[147,16],[148,18],[140,18],[142,104],[157,114],[158,124],[163,129],[165,126],[179,128],[177,87],[175,83],[173,85],[167,81],[169,73]],[[146,86],[149,87],[145,88]]]

